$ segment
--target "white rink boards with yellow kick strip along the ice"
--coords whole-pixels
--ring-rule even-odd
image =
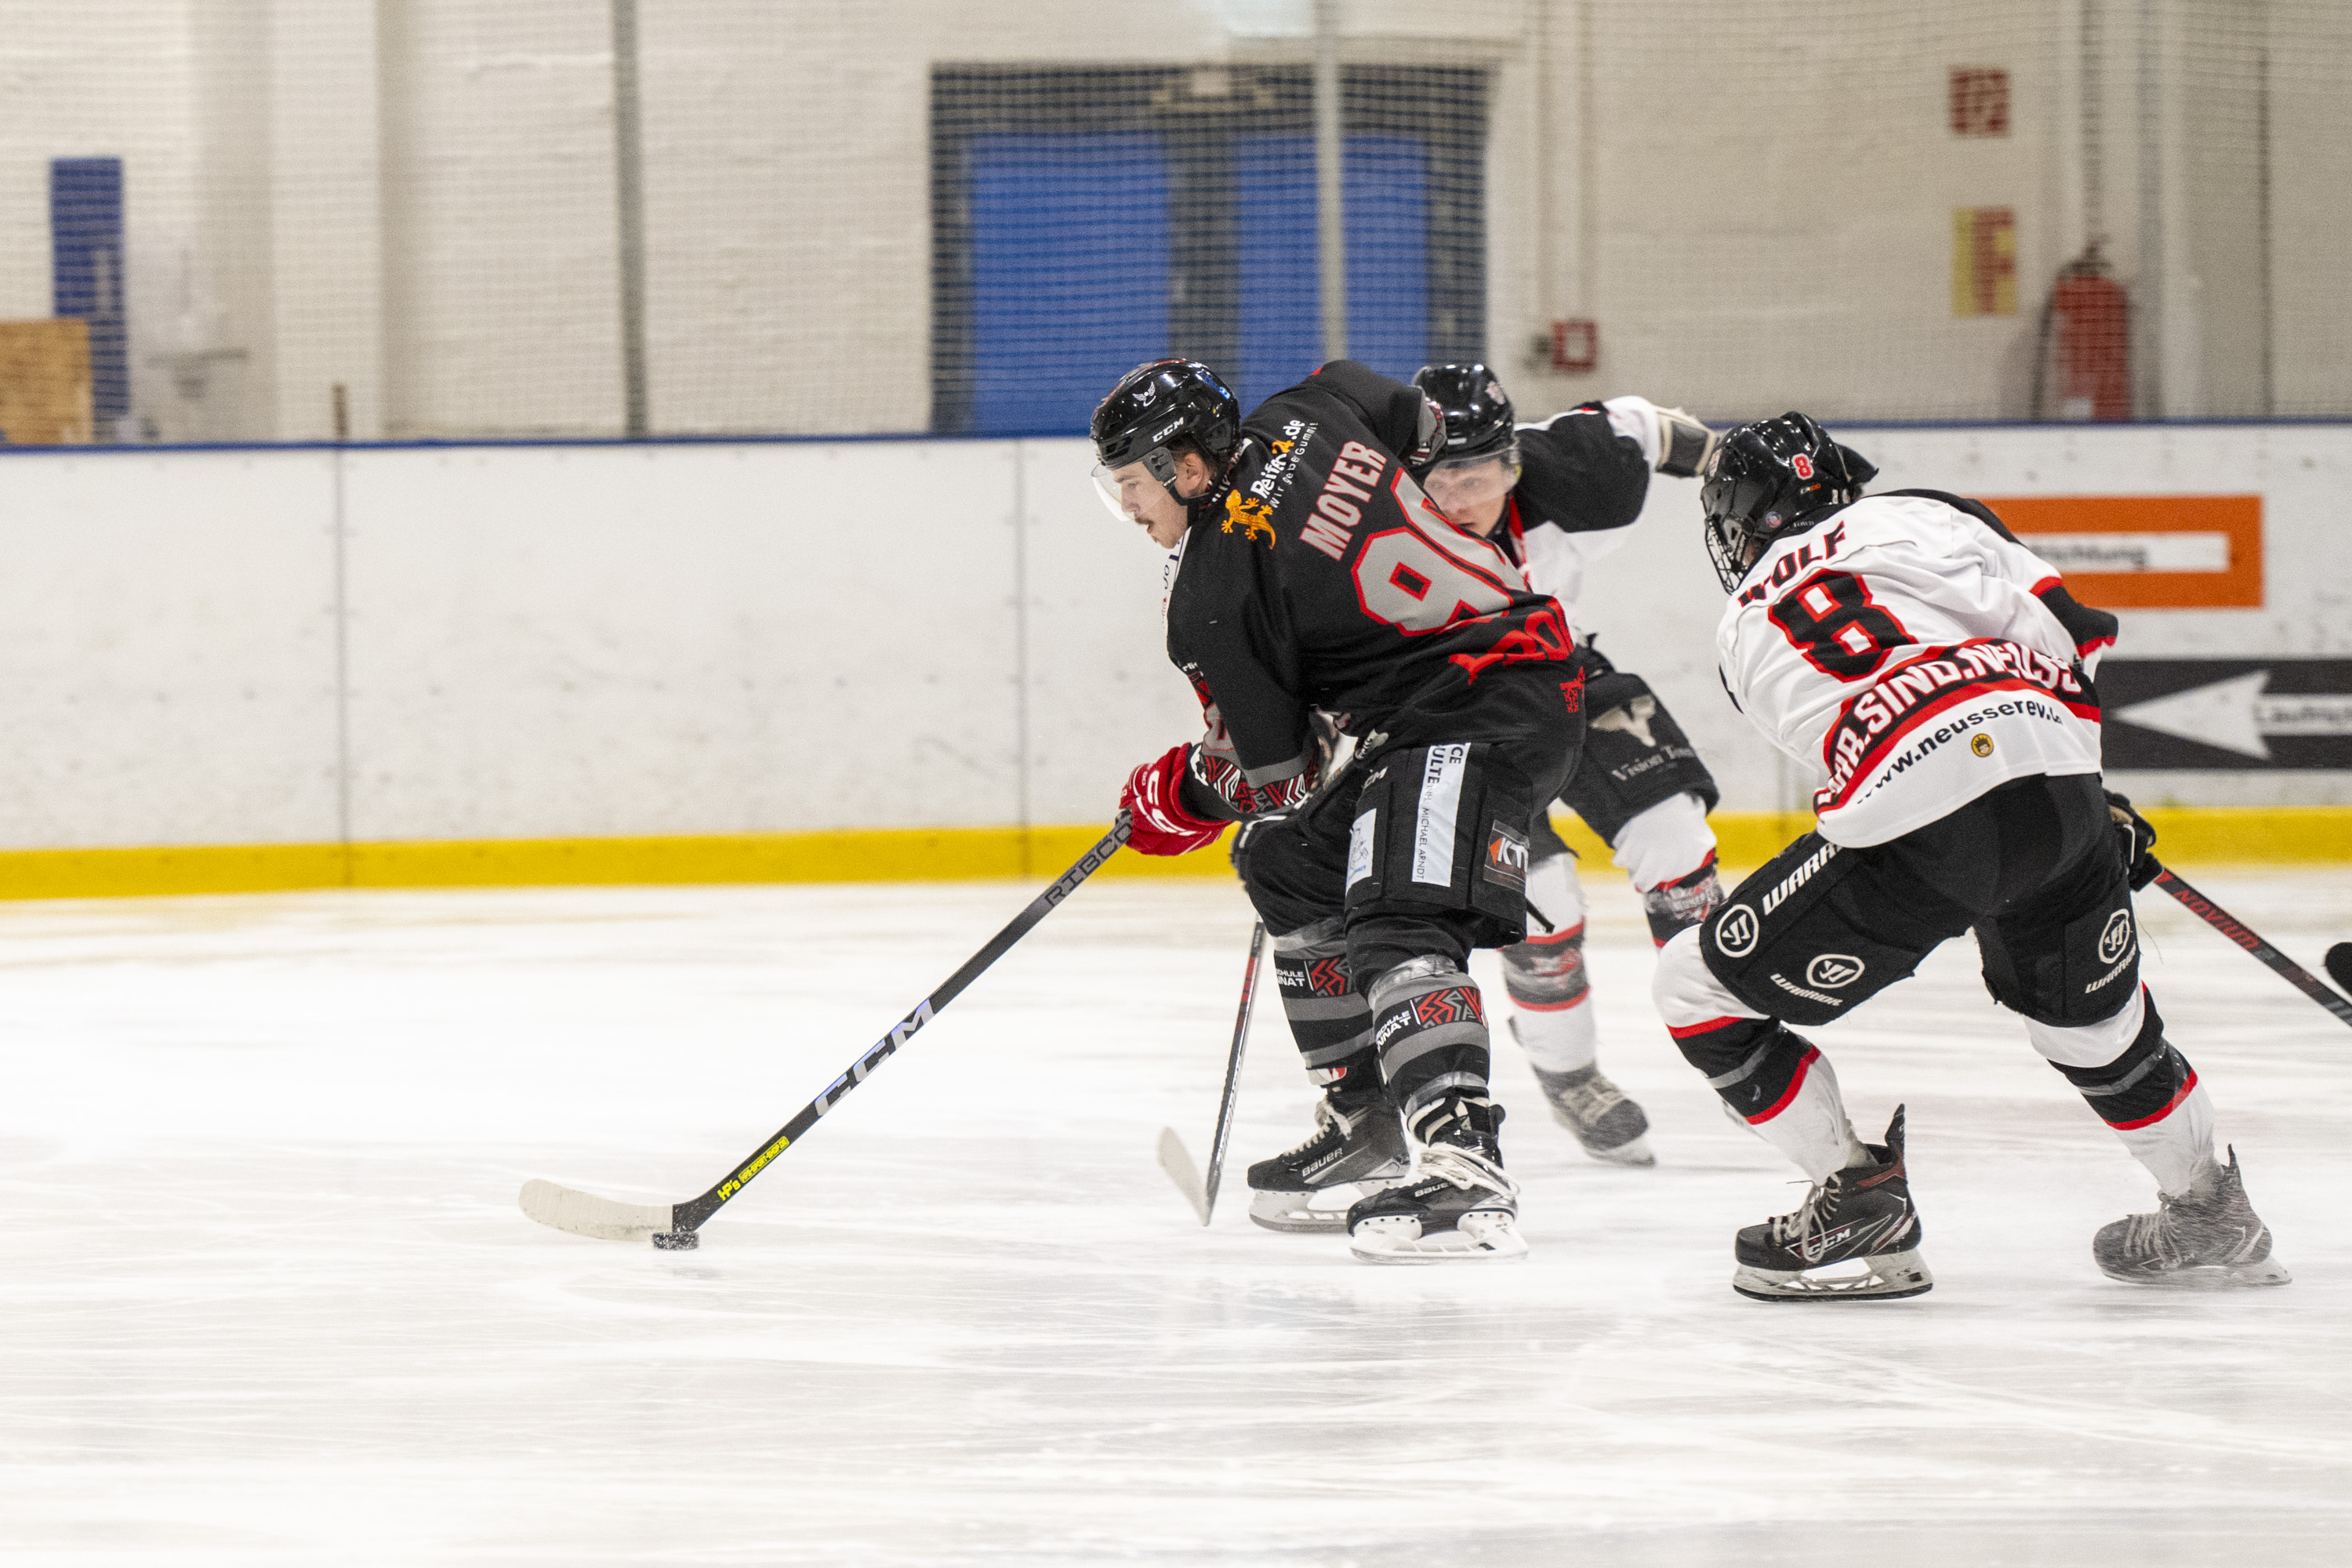
[[[1853,435],[1882,487],[2258,498],[2260,604],[2126,609],[2119,654],[2352,646],[2352,428]],[[9,451],[0,891],[1047,872],[1197,729],[1160,552],[1087,465],[1065,440]],[[1682,717],[1752,860],[1809,785],[1715,682],[1719,604],[1696,487],[1658,480],[1581,621]],[[2352,856],[2352,771],[2124,785],[2305,809],[2178,818],[2183,858]]]

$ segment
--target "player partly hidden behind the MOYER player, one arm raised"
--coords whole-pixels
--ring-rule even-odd
[[[1712,433],[1682,409],[1646,397],[1588,402],[1543,423],[1517,425],[1510,395],[1484,364],[1425,364],[1414,386],[1446,421],[1444,447],[1421,480],[1446,517],[1491,538],[1536,592],[1559,599],[1569,628],[1585,569],[1625,543],[1642,515],[1649,477],[1698,473]],[[1562,790],[1611,849],[1642,893],[1651,940],[1665,943],[1722,903],[1708,811],[1722,792],[1708,764],[1649,684],[1613,668],[1590,637],[1578,639],[1585,672],[1585,750]],[[1536,926],[1503,950],[1510,1032],[1552,1105],[1592,1159],[1656,1164],[1649,1117],[1599,1070],[1599,1027],[1585,976],[1585,893],[1576,856],[1552,830],[1550,802],[1529,825],[1534,865],[1526,903]],[[1550,929],[1541,929],[1550,922]]]

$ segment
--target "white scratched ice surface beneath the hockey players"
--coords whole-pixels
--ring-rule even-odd
[[[2136,1293],[2089,1239],[2150,1182],[1947,947],[1825,1032],[1865,1131],[1910,1103],[1936,1293],[1745,1302],[1731,1232],[1799,1190],[1675,1056],[1604,877],[1658,1168],[1583,1159],[1505,1044],[1534,1258],[1425,1272],[1247,1222],[1308,1128],[1270,994],[1211,1229],[1157,1168],[1216,1110],[1223,884],[1087,886],[699,1253],[515,1190],[701,1192],[1028,891],[0,907],[0,1561],[2352,1554],[2352,1030],[2143,900],[2296,1284]],[[2305,961],[2352,933],[2343,875],[2197,882]]]

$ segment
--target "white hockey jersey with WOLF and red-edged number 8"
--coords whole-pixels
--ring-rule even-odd
[[[2117,621],[1980,501],[1863,496],[1757,557],[1715,632],[1724,689],[1818,769],[1818,832],[1884,844],[2030,773],[2098,773]]]

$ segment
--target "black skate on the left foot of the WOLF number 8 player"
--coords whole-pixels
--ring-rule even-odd
[[[1884,1145],[1804,1197],[1797,1213],[1740,1229],[1731,1288],[1759,1302],[1896,1300],[1926,1295],[1936,1276],[1919,1255],[1919,1213],[1903,1173],[1903,1107]]]

